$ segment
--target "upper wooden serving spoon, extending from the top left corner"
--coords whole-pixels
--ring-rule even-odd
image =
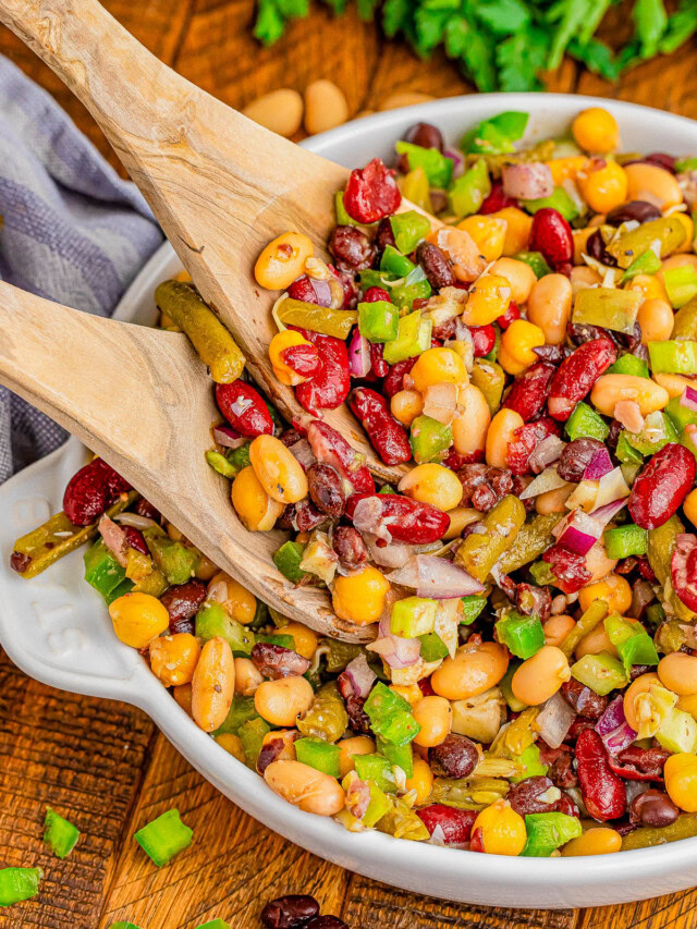
[[[204,300],[233,332],[254,380],[289,423],[302,420],[307,414],[268,357],[278,294],[259,288],[252,269],[264,246],[289,230],[308,234],[323,250],[334,224],[333,195],[348,171],[191,84],[97,0],[0,0],[0,21],[89,110]],[[417,209],[406,201],[402,208]],[[376,456],[344,404],[323,418],[379,477],[394,482],[407,469]]]

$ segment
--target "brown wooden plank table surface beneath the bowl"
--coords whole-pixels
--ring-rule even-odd
[[[108,9],[161,59],[233,107],[281,86],[337,82],[352,113],[378,109],[394,91],[472,93],[445,59],[418,61],[386,45],[352,12],[326,8],[293,24],[273,49],[249,35],[252,0],[107,0]],[[353,4],[348,4],[353,7]],[[608,32],[625,27],[622,11]],[[8,32],[0,51],[52,93],[117,163],[82,106]],[[619,96],[697,118],[697,44],[648,62],[609,85],[565,62],[550,89]],[[7,557],[2,553],[2,558]],[[21,618],[17,618],[21,621]],[[46,806],[82,831],[65,861],[41,844]],[[176,806],[194,844],[158,870],[133,833]],[[347,841],[350,839],[347,838]],[[456,853],[453,853],[456,854]],[[348,873],[286,842],[246,816],[200,778],[139,710],[45,687],[0,649],[0,867],[45,869],[40,894],[0,913],[1,929],[195,929],[216,917],[257,929],[264,903],[311,893],[323,913],[353,929],[694,929],[697,889],[626,906],[509,910],[440,903]],[[589,901],[591,903],[591,901]]]

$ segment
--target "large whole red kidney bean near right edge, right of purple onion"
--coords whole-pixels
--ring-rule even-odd
[[[695,459],[684,445],[669,442],[641,468],[632,485],[629,513],[643,529],[667,523],[695,484]]]

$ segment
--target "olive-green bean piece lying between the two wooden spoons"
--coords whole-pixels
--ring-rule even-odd
[[[164,281],[155,291],[155,302],[186,333],[216,383],[237,380],[245,357],[231,333],[192,284]]]

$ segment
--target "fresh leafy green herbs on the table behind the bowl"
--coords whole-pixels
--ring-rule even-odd
[[[346,0],[322,0],[341,15]],[[634,32],[617,51],[595,38],[617,0],[356,0],[360,19],[379,16],[388,38],[404,36],[421,58],[442,46],[480,90],[540,90],[542,71],[565,53],[608,81],[656,54],[670,54],[697,32],[696,0],[668,14],[663,0],[634,0]],[[629,0],[626,0],[629,5]],[[309,0],[258,0],[255,36],[273,45]]]

